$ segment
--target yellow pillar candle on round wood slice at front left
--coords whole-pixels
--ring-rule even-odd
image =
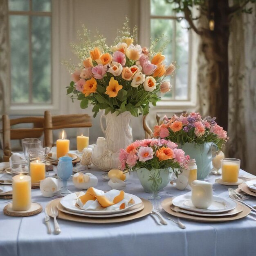
[[[27,211],[31,207],[31,177],[15,175],[12,178],[12,209]]]

